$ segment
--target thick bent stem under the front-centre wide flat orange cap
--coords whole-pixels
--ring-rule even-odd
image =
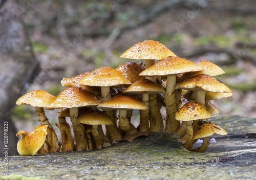
[[[134,125],[129,122],[127,119],[127,110],[120,109],[119,110],[119,127],[124,132],[133,134],[135,132],[138,132],[138,130],[134,127]]]

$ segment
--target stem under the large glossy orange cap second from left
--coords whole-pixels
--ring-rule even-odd
[[[70,108],[70,120],[73,124],[73,131],[75,135],[76,151],[87,150],[87,141],[84,136],[82,125],[78,123],[78,107]]]

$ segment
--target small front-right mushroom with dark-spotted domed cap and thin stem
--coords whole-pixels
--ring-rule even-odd
[[[188,102],[183,105],[176,113],[175,118],[178,121],[186,121],[186,144],[185,148],[191,150],[193,146],[193,124],[194,120],[210,118],[210,113],[200,104]]]

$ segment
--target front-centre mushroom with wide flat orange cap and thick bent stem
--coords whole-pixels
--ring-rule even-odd
[[[108,101],[103,101],[97,108],[102,110],[117,109],[119,110],[119,127],[129,134],[138,132],[133,124],[127,119],[127,110],[130,109],[147,109],[143,102],[129,95],[117,95]]]

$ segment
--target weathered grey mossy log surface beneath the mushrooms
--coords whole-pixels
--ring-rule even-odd
[[[205,153],[187,151],[174,141],[174,134],[155,133],[96,151],[9,156],[9,176],[1,178],[255,179],[256,118],[225,116],[209,121],[229,134],[214,137],[217,143],[210,143]]]

